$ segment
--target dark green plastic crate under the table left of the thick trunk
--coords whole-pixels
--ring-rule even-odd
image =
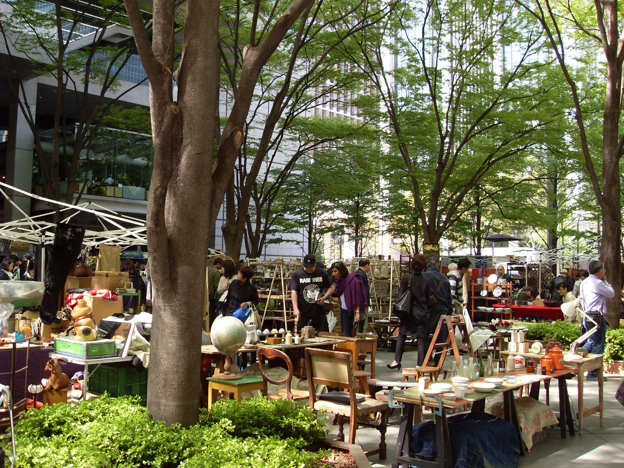
[[[97,393],[107,392],[110,396],[139,395],[141,404],[147,403],[147,369],[137,372],[132,364],[101,364],[92,376],[89,376],[89,390]]]

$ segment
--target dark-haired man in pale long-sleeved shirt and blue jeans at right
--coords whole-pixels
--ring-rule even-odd
[[[613,286],[607,283],[605,279],[605,264],[600,260],[592,260],[589,264],[589,276],[580,285],[580,296],[583,301],[583,311],[590,314],[598,324],[598,330],[592,334],[583,349],[587,349],[593,354],[603,354],[605,352],[605,339],[607,338],[607,304],[605,298],[615,296]],[[586,329],[595,326],[593,323],[587,323],[587,318],[583,318],[583,325]],[[593,369],[587,373],[587,380],[598,380],[598,370]],[[605,378],[605,380],[607,380]]]

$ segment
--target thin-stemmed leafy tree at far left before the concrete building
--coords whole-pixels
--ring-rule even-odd
[[[71,7],[60,0],[1,4],[6,12],[0,14],[0,32],[10,65],[0,62],[0,67],[32,130],[46,195],[60,200],[60,181],[65,178],[65,202],[72,203],[80,157],[88,154],[107,115],[119,109],[119,100],[142,84],[119,90],[119,74],[134,53],[132,37],[122,41],[112,37],[129,32],[123,2],[87,0]],[[49,77],[56,88],[51,148],[42,142],[36,115],[25,102],[25,84],[33,73]],[[50,162],[45,154],[52,154]]]

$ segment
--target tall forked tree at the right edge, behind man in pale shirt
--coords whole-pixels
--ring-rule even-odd
[[[620,185],[620,158],[624,155],[624,134],[620,132],[622,115],[622,62],[624,62],[624,38],[618,24],[618,2],[594,0],[588,3],[516,0],[525,11],[540,22],[551,50],[569,85],[573,100],[574,119],[578,127],[578,143],[583,162],[596,200],[602,210],[602,241],[600,259],[605,263],[608,280],[617,291],[607,299],[607,320],[612,327],[620,323],[620,275],[622,254],[622,192]],[[568,34],[566,30],[573,31]],[[573,39],[579,39],[572,42]],[[592,145],[588,135],[587,121],[594,119],[596,109],[583,108],[582,87],[575,79],[575,62],[580,54],[570,50],[569,45],[593,42],[602,49],[606,76],[604,104],[602,108],[602,149]],[[596,51],[597,53],[597,51]],[[592,111],[592,112],[588,112]],[[595,153],[601,152],[599,157]]]

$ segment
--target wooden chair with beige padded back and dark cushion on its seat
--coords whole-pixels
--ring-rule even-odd
[[[310,388],[310,407],[314,410],[324,410],[337,416],[339,426],[338,440],[344,442],[344,422],[349,422],[349,444],[355,444],[355,434],[358,425],[373,426],[379,429],[381,441],[379,448],[366,452],[366,456],[379,454],[379,459],[386,459],[386,427],[388,426],[388,403],[377,401],[366,395],[356,393],[356,381],[353,371],[353,354],[325,349],[306,348],[306,368],[308,369],[308,386]],[[324,384],[339,389],[348,389],[349,405],[330,401],[317,400],[314,393],[314,384]],[[364,401],[357,402],[357,397],[364,397]],[[369,414],[381,413],[381,421],[368,420]]]

